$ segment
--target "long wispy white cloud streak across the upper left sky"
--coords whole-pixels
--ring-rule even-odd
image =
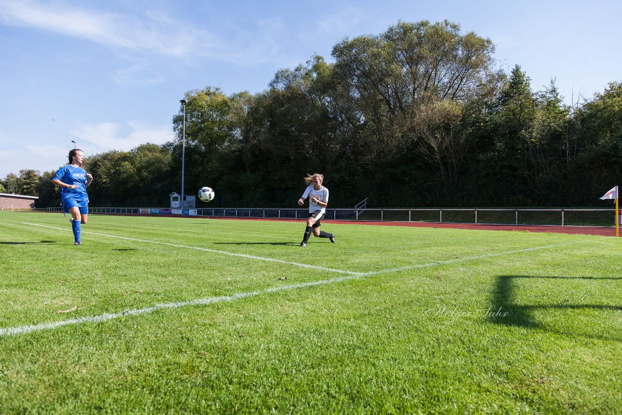
[[[261,27],[259,36],[251,34],[248,27],[226,22],[212,26],[218,30],[218,34],[213,34],[190,22],[176,21],[160,11],[129,15],[37,0],[0,0],[0,24],[90,40],[113,47],[121,54],[159,54],[188,62],[197,57],[211,57],[241,65],[270,60],[287,33],[279,19],[254,22]],[[128,69],[116,75],[119,83],[124,82],[124,71]],[[159,81],[157,76],[149,78],[151,83]]]

